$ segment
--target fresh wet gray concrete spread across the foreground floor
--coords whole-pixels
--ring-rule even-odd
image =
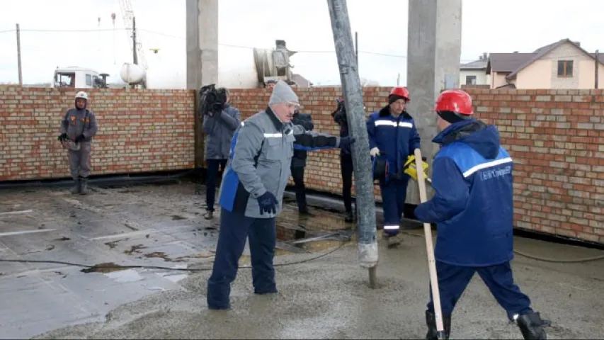
[[[533,254],[586,257],[594,251],[518,239]],[[251,293],[251,275],[234,283],[233,309],[207,310],[209,273],[190,276],[180,290],[123,305],[105,322],[67,327],[35,339],[421,339],[428,296],[426,253],[421,234],[399,249],[380,247],[380,287],[367,287],[355,261],[355,246],[330,256],[277,269],[280,293]],[[278,262],[304,255],[279,256]],[[307,256],[307,255],[305,255]],[[552,320],[549,339],[597,339],[603,334],[603,263],[558,265],[519,258],[516,279],[534,307]],[[451,339],[520,339],[482,281],[474,277],[453,317]]]

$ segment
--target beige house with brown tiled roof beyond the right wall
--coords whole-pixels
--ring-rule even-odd
[[[604,87],[604,56],[596,60],[595,53],[570,39],[530,53],[491,53],[485,71],[491,89],[595,89],[596,74],[598,88]]]

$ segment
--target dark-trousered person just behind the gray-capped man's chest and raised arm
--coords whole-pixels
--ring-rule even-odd
[[[314,128],[310,114],[300,113],[299,109],[296,109],[294,112],[292,123],[294,125],[302,126],[302,128],[307,131],[312,131]],[[308,157],[307,153],[307,151],[295,149],[291,164],[292,177],[294,179],[296,191],[296,201],[300,215],[312,215],[308,211],[308,205],[306,203],[306,187],[304,186],[304,167],[306,166],[306,159]]]

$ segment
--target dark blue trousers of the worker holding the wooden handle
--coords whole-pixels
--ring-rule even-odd
[[[512,320],[514,314],[522,315],[532,312],[530,299],[514,283],[509,262],[488,267],[462,267],[436,261],[440,307],[443,309],[443,315],[450,315],[453,312],[455,304],[460,300],[469,280],[476,272],[486,287],[491,290],[495,300],[506,310],[508,319]],[[430,312],[434,312],[432,289],[427,307]]]

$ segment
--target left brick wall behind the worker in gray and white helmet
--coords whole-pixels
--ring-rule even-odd
[[[89,91],[98,135],[93,174],[124,174],[193,167],[193,91]],[[0,181],[69,176],[57,141],[75,91],[0,89]]]

